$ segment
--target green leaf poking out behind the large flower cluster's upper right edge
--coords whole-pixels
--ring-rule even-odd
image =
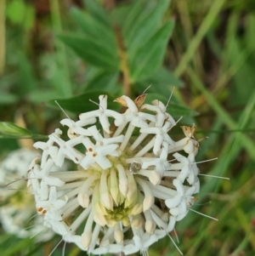
[[[146,97],[146,102],[151,102],[152,100],[160,100],[165,105],[167,104],[167,96],[165,94],[148,94]],[[170,104],[167,106],[167,112],[173,116],[173,117],[195,117],[198,115],[198,112],[191,110],[188,107],[185,107],[183,105],[173,104],[170,102]]]

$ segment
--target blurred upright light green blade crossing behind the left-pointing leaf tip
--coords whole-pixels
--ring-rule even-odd
[[[59,0],[50,0],[51,19],[54,33],[62,32],[61,15],[59,11]],[[72,88],[69,76],[69,69],[67,65],[67,58],[65,54],[65,45],[59,40],[55,40],[57,63],[61,74],[64,76],[64,82],[57,82],[57,89],[61,92],[62,96],[70,97],[72,95]]]

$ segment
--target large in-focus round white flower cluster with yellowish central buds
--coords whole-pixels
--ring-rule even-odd
[[[98,110],[61,121],[69,139],[57,128],[34,145],[42,158],[31,163],[28,187],[37,212],[44,225],[88,253],[146,254],[184,218],[200,190],[195,126],[182,127],[184,139],[174,141],[167,106],[144,100],[145,94],[116,99],[127,107],[120,114],[100,95]],[[77,168],[52,172],[66,161]]]

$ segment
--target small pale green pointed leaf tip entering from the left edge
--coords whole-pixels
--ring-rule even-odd
[[[31,132],[12,122],[0,122],[0,133],[11,137],[31,136]]]

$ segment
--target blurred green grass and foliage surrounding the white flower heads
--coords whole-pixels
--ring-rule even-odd
[[[167,102],[175,87],[169,113],[195,122],[197,139],[209,137],[197,161],[218,157],[201,174],[230,178],[201,177],[194,208],[218,222],[190,212],[176,226],[178,246],[186,256],[255,255],[254,49],[254,0],[1,0],[0,158],[31,147],[17,138],[59,127],[54,100],[77,119],[99,94],[136,97],[152,84],[147,100]],[[47,256],[59,240],[0,228],[3,256]],[[179,255],[167,238],[149,253]],[[85,254],[66,245],[65,255]]]

